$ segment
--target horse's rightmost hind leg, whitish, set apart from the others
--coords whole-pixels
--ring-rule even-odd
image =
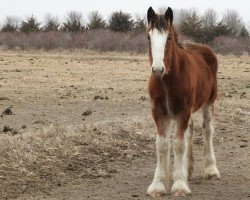
[[[216,159],[213,149],[213,113],[212,106],[204,106],[203,112],[203,137],[204,137],[204,157],[206,179],[220,178],[220,173],[216,166]]]

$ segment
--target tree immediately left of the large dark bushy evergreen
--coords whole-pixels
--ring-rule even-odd
[[[106,28],[106,22],[98,11],[93,11],[89,13],[88,18],[89,18],[88,29]]]

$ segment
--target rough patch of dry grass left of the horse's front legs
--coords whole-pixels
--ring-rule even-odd
[[[51,126],[17,136],[2,134],[1,199],[32,191],[49,193],[53,187],[86,178],[110,177],[118,170],[112,163],[129,163],[151,154],[151,139],[137,132],[148,128],[136,120],[129,126],[113,121],[89,127]]]

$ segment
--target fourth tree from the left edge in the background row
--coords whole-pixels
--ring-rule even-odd
[[[66,16],[62,29],[67,32],[79,32],[85,29],[83,17],[80,12],[70,11]]]

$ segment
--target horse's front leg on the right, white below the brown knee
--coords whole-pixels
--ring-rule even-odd
[[[174,147],[174,184],[171,188],[173,196],[185,196],[191,193],[188,187],[188,151],[190,113],[184,113],[177,118],[177,133],[173,142]]]

